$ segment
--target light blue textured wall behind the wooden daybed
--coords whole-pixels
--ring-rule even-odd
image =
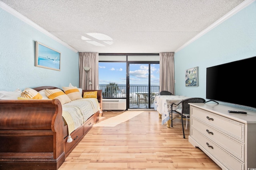
[[[60,71],[35,66],[35,41],[61,53]],[[78,53],[0,8],[0,90],[78,86]]]

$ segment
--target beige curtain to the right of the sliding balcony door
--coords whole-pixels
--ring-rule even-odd
[[[174,53],[160,53],[160,89],[175,95],[174,89]]]

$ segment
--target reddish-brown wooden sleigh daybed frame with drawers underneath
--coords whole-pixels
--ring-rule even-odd
[[[52,86],[34,88],[55,89]],[[54,100],[0,100],[0,169],[57,170],[102,114],[102,90],[97,91],[100,109],[70,136],[62,118],[62,105]]]

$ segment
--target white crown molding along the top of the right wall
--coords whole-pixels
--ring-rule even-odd
[[[245,0],[244,2],[242,2],[241,4],[239,4],[238,6],[236,6],[233,10],[231,10],[230,12],[228,12],[226,15],[224,15],[222,18],[220,18],[219,20],[215,21],[212,25],[210,25],[209,27],[207,27],[206,29],[204,29],[203,31],[201,31],[200,33],[198,33],[198,35],[196,35],[195,37],[193,37],[192,39],[190,39],[188,42],[186,42],[184,45],[180,46],[178,49],[176,49],[174,51],[174,53],[177,53],[178,51],[180,51],[181,49],[183,49],[184,47],[186,47],[187,45],[189,45],[190,43],[192,43],[193,41],[195,41],[196,39],[200,38],[202,35],[206,34],[207,32],[209,32],[211,29],[213,29],[214,27],[218,26],[220,23],[224,22],[225,20],[227,20],[228,18],[232,17],[234,14],[236,14],[237,12],[239,12],[240,10],[244,9],[246,6],[252,4],[255,0]]]

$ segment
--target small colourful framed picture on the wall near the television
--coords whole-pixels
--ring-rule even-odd
[[[198,87],[198,67],[185,70],[186,87]]]

